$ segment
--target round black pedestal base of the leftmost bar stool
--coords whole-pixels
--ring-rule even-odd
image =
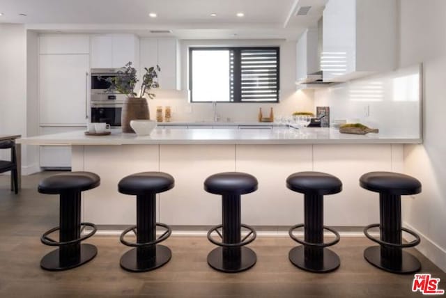
[[[80,246],[80,255],[78,258],[75,257],[72,262],[66,260],[61,264],[59,260],[60,249],[55,249],[40,260],[40,267],[50,271],[72,269],[89,262],[98,254],[98,249],[92,244],[80,244]]]

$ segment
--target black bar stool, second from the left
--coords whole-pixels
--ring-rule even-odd
[[[121,267],[131,272],[144,272],[156,269],[169,262],[172,253],[169,247],[158,243],[166,240],[172,233],[167,224],[156,222],[156,194],[174,188],[174,178],[162,172],[144,172],[121,179],[118,191],[121,194],[137,196],[137,224],[123,231],[119,240],[127,246],[132,246],[121,257]],[[165,228],[165,232],[156,237],[156,227]],[[137,236],[137,242],[124,240],[125,234],[132,231]]]

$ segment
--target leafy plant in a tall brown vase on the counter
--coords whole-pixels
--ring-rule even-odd
[[[127,95],[124,101],[121,113],[121,126],[123,132],[134,132],[130,127],[130,120],[134,119],[150,119],[147,100],[144,95],[153,100],[156,96],[151,93],[151,89],[158,88],[158,72],[161,71],[160,66],[152,66],[144,68],[146,73],[141,80],[141,88],[135,93],[134,88],[139,81],[137,79],[137,70],[132,67],[132,62],[125,64],[121,70],[118,70],[116,76],[105,79],[110,83],[108,91],[118,91]]]

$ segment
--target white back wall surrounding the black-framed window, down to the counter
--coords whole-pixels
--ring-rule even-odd
[[[171,121],[211,120],[211,103],[190,104],[187,98],[188,47],[206,45],[235,46],[280,46],[280,102],[279,104],[261,103],[218,103],[217,113],[221,120],[256,121],[259,108],[269,116],[270,107],[275,115],[291,115],[293,111],[313,111],[313,91],[295,91],[295,41],[284,40],[182,40],[180,42],[180,71],[183,91],[155,91],[157,97],[149,102],[151,118],[155,118],[157,106],[171,106]],[[161,65],[162,68],[162,65]]]

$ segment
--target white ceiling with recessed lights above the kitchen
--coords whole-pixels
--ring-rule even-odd
[[[168,29],[171,36],[185,39],[296,39],[317,22],[327,1],[0,0],[0,23],[24,23],[38,31],[118,31],[140,36],[153,35],[149,29]],[[299,6],[312,8],[306,16],[295,16]],[[158,17],[148,17],[152,12]],[[237,17],[238,12],[245,17]]]

